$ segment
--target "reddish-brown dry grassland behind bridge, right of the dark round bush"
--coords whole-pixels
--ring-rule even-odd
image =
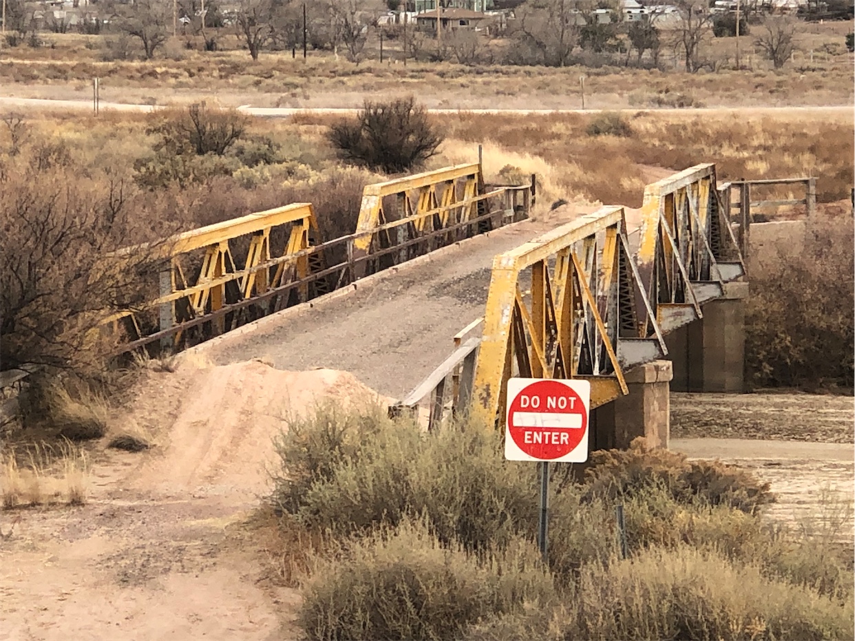
[[[720,181],[817,176],[817,199],[846,198],[852,186],[851,111],[831,114],[638,112],[630,136],[588,136],[594,116],[438,116],[445,158],[485,143],[486,171],[518,165],[539,174],[549,197],[639,207],[649,168],[679,171],[715,162]],[[489,126],[485,127],[485,123]],[[803,197],[803,196],[801,196]]]

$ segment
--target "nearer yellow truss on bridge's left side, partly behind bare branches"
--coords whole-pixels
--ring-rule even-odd
[[[279,250],[271,243],[271,232],[277,228],[282,228],[287,237]],[[101,321],[101,329],[117,334],[121,323],[130,338],[123,350],[157,340],[162,347],[174,348],[187,329],[203,324],[209,326],[210,333],[224,332],[227,325],[235,326],[242,321],[240,315],[245,311],[242,302],[306,277],[310,270],[307,251],[311,246],[310,234],[316,230],[310,203],[293,203],[182,232],[158,243],[126,247],[105,256],[103,263],[110,268],[121,268],[126,262],[139,263],[142,259],[159,262],[162,268],[159,296],[135,309],[109,315]],[[233,246],[244,238],[248,248],[242,267],[238,267]],[[200,256],[201,250],[204,253]],[[298,296],[306,296],[307,286],[298,286]],[[277,297],[267,297],[262,304],[280,308],[285,303]],[[139,321],[139,315],[151,309],[158,311],[156,328]],[[224,313],[227,309],[230,319]]]

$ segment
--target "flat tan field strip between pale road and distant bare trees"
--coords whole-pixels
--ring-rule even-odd
[[[156,60],[105,62],[109,56],[102,37],[45,33],[45,46],[0,50],[0,92],[85,98],[97,76],[102,99],[124,103],[208,97],[229,106],[355,107],[365,97],[413,93],[428,107],[577,109],[584,75],[585,106],[593,109],[851,104],[852,55],[844,45],[851,26],[840,22],[801,28],[794,60],[781,70],[771,69],[754,51],[749,35],[741,38],[742,71],[732,70],[735,39],[711,38],[709,56],[725,70],[698,74],[681,71],[670,50],[660,58],[665,72],[610,66],[467,67],[412,60],[404,67],[399,59],[380,63],[371,57],[375,52],[358,65],[316,52],[304,62],[282,51],[262,52],[253,62],[226,32],[218,40],[225,48],[221,51],[206,53],[193,38],[176,38]]]

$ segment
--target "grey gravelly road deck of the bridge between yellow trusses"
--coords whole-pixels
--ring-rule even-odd
[[[198,346],[216,364],[255,357],[275,368],[351,372],[402,398],[453,350],[451,338],[484,314],[492,259],[563,221],[522,221],[357,281],[357,291],[268,316]],[[249,330],[249,331],[246,331]]]

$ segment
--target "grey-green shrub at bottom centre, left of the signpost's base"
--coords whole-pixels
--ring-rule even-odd
[[[479,561],[441,544],[424,520],[408,519],[318,559],[299,622],[312,639],[461,638],[469,624],[545,601],[551,591],[530,544],[516,540]]]

